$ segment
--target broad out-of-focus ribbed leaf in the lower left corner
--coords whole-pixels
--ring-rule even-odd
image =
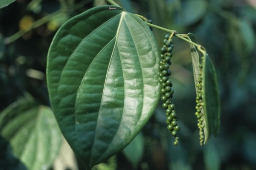
[[[0,114],[0,134],[28,170],[48,169],[61,146],[61,133],[50,108],[19,100]]]

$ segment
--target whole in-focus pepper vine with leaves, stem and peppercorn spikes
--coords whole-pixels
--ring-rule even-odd
[[[178,34],[108,2],[111,5],[91,8],[64,23],[47,57],[52,111],[85,168],[90,170],[125,148],[154,113],[160,94],[166,108],[166,130],[178,144],[179,113],[171,101],[175,89],[169,79],[175,37],[191,48],[200,143],[217,135],[217,78],[204,47],[191,33]],[[161,50],[152,28],[167,33]]]

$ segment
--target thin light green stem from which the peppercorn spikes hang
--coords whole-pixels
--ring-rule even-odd
[[[108,3],[110,3],[111,5],[113,6],[119,6],[116,2],[114,2],[113,0],[106,0]],[[139,15],[139,14],[136,14],[138,17],[140,17],[142,20],[145,21],[145,23],[148,25],[148,26],[151,26],[153,28],[157,28],[159,30],[162,30],[162,31],[166,31],[166,32],[169,32],[171,34],[171,37],[172,36],[175,36],[181,40],[184,40],[186,42],[189,42],[190,44],[192,45],[195,45],[195,47],[198,49],[198,51],[200,51],[203,55],[206,54],[206,50],[205,48],[202,46],[202,45],[199,45],[195,42],[192,42],[191,40],[188,39],[188,36],[187,34],[177,34],[177,31],[176,30],[171,30],[171,29],[167,29],[167,28],[163,28],[163,27],[160,27],[160,26],[157,26],[157,25],[154,25],[154,24],[151,24],[151,23],[148,23],[147,22],[147,18],[143,17],[142,15]]]

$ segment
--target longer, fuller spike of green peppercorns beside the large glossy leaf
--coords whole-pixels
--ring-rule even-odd
[[[172,103],[172,95],[174,93],[172,89],[172,82],[169,79],[171,71],[169,70],[172,57],[172,39],[169,34],[166,34],[165,39],[163,40],[163,47],[161,48],[161,60],[160,60],[160,85],[161,85],[161,100],[163,101],[162,107],[166,109],[166,123],[167,129],[175,137],[174,145],[178,144],[177,131],[180,130],[180,127],[177,125],[177,113],[175,111],[175,105]]]

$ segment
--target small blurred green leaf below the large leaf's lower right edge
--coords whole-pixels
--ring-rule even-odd
[[[144,140],[143,134],[138,133],[137,136],[122,150],[122,153],[125,155],[126,159],[128,159],[133,167],[136,169],[138,164],[140,163],[144,151]],[[136,154],[134,154],[136,153]]]

